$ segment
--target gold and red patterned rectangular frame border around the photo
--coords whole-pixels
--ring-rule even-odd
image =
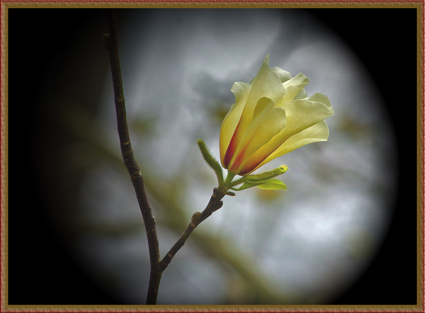
[[[102,305],[8,305],[8,8],[93,8],[93,7],[115,7],[115,8],[416,8],[417,10],[417,305],[415,306],[337,306],[329,305],[283,305],[283,306],[263,306],[263,305],[125,305],[125,306],[102,306]],[[125,0],[2,0],[0,8],[1,32],[1,76],[0,76],[0,222],[1,222],[1,312],[424,312],[425,309],[425,262],[424,262],[424,140],[425,140],[425,110],[424,110],[424,89],[425,89],[425,62],[424,62],[424,14],[425,2],[416,1],[371,1],[371,0],[148,0],[148,1],[125,1]],[[419,65],[420,64],[420,65]]]

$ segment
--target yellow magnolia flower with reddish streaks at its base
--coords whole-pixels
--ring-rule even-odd
[[[315,141],[326,141],[325,118],[334,115],[329,98],[307,97],[309,79],[291,78],[279,67],[270,69],[269,55],[251,83],[236,82],[235,103],[220,129],[221,165],[232,174],[248,175],[274,158]]]

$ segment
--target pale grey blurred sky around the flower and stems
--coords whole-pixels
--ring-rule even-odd
[[[196,232],[223,238],[242,251],[248,256],[246,267],[264,277],[269,292],[283,302],[285,297],[331,301],[368,264],[392,212],[395,174],[385,166],[394,162],[394,138],[362,63],[299,10],[152,10],[143,16],[132,11],[119,32],[136,158],[151,178],[184,178],[187,221],[207,204],[217,184],[196,140],[202,138],[219,155],[220,123],[213,113],[234,102],[232,83],[248,83],[270,53],[271,67],[310,78],[308,95],[328,95],[335,111],[326,120],[329,141],[309,144],[259,169],[287,164],[281,180],[288,190],[238,192],[225,198],[223,208]],[[102,144],[119,157],[111,81],[104,90],[97,123],[106,135]],[[139,134],[136,126],[149,119],[150,132]],[[109,225],[141,222],[125,173],[104,164],[86,177],[80,193],[83,219]],[[161,215],[157,220],[161,225]],[[178,234],[161,226],[158,232],[164,255]],[[82,258],[91,260],[87,266],[94,276],[111,273],[118,279],[116,292],[131,303],[143,302],[147,289],[148,267],[140,267],[148,264],[144,237],[141,228],[119,239],[88,234],[81,240]],[[249,301],[243,284],[229,273],[188,241],[164,272],[158,304]]]

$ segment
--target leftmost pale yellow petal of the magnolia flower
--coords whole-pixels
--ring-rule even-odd
[[[223,164],[224,154],[229,146],[230,139],[232,139],[233,132],[241,118],[242,111],[244,110],[246,98],[249,93],[249,85],[247,83],[236,82],[233,84],[231,92],[235,95],[235,103],[230,106],[230,111],[221,123],[220,129],[220,160]]]

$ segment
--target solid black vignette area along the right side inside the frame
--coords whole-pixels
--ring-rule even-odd
[[[363,60],[387,104],[397,136],[399,194],[394,220],[364,276],[334,304],[416,303],[416,10],[312,10]],[[397,96],[394,72],[401,73]],[[388,169],[391,171],[391,169]]]

